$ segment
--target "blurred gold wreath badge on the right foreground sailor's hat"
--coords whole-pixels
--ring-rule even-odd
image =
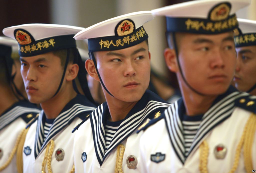
[[[215,7],[210,14],[210,19],[213,21],[224,20],[228,17],[230,7],[227,4],[220,4]]]

